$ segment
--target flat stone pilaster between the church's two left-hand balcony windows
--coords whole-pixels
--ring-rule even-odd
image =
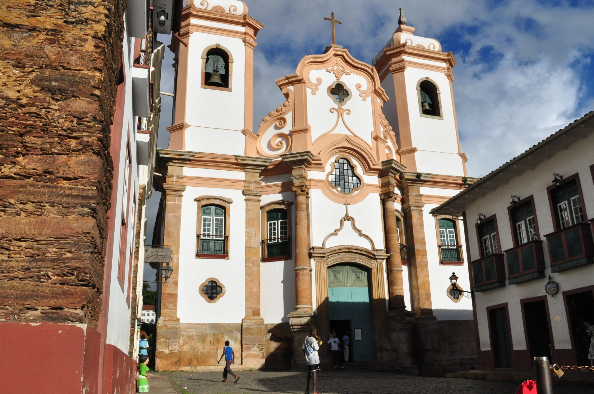
[[[260,173],[272,159],[238,155],[235,158],[245,173],[245,317],[241,321],[241,363],[260,368],[266,361],[266,329],[260,316]]]

